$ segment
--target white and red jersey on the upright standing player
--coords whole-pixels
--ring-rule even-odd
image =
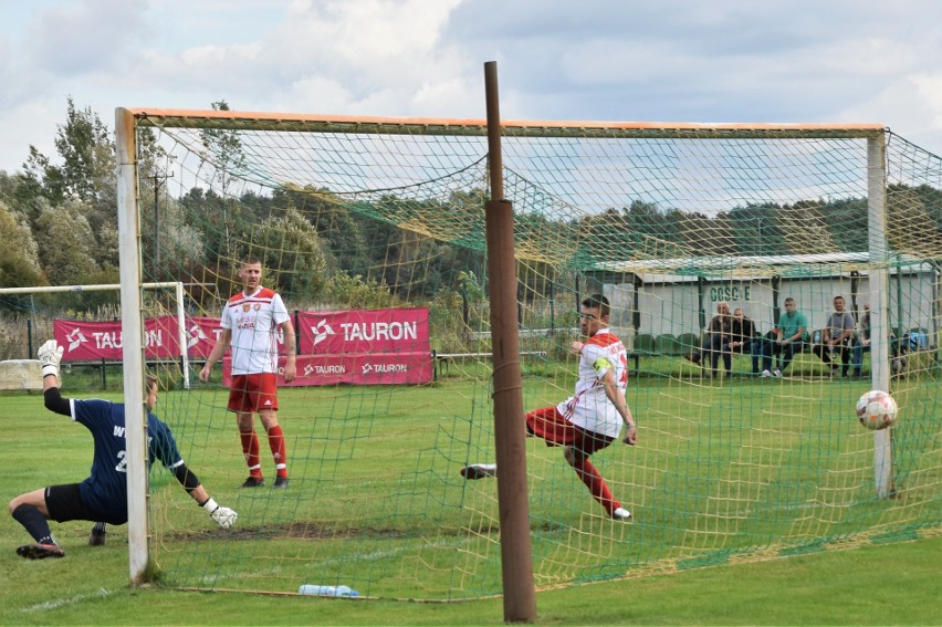
[[[279,326],[290,318],[281,296],[259,288],[247,296],[239,292],[222,307],[220,326],[232,332],[232,374],[278,373]]]

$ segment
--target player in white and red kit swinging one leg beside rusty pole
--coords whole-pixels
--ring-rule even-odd
[[[583,301],[579,326],[586,342],[573,342],[579,355],[576,394],[556,405],[527,412],[526,431],[543,438],[546,446],[562,446],[563,456],[609,516],[629,520],[631,513],[615,500],[589,456],[618,439],[622,424],[624,442],[638,442],[638,427],[625,399],[628,385],[628,355],[625,345],[608,328],[608,299],[594,294]],[[493,463],[475,463],[461,469],[465,479],[495,477]]]

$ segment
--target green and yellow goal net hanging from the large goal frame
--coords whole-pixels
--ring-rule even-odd
[[[239,488],[247,466],[218,369],[209,384],[163,393],[158,412],[188,466],[239,521],[216,529],[155,470],[160,581],[499,594],[496,481],[459,472],[494,458],[483,124],[129,115],[140,281],[218,285],[188,293],[188,326],[211,337],[240,290],[239,260],[252,254],[295,316],[299,363],[313,367],[304,385],[279,390],[287,490],[271,489],[258,421],[269,485]],[[593,456],[631,523],[607,515],[561,449],[526,440],[537,586],[938,532],[939,157],[876,126],[505,123],[502,142],[524,404],[573,394],[579,303],[603,293],[629,348],[640,426],[637,447]],[[846,360],[841,346],[820,346],[835,296],[855,323],[871,312],[870,342],[855,335]],[[786,299],[807,320],[805,349],[787,364],[770,351],[755,367],[750,347],[721,351],[714,374],[718,307],[754,322],[760,353]],[[375,327],[357,324],[390,311],[419,312],[425,334],[371,344]],[[315,343],[327,327],[360,343]],[[685,358],[697,351],[699,363]],[[400,363],[379,357],[399,352],[416,362],[389,367],[421,376],[350,380],[331,369],[364,375]],[[880,386],[900,418],[875,436],[855,405]]]

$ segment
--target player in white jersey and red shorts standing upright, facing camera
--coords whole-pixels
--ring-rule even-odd
[[[254,257],[242,260],[239,269],[242,291],[229,299],[222,307],[222,333],[212,347],[206,365],[199,373],[208,382],[212,365],[232,347],[232,386],[229,390],[229,410],[236,412],[242,453],[249,464],[249,478],[242,488],[261,488],[265,484],[259,456],[259,437],[255,435],[255,414],[269,437],[269,448],[275,462],[274,488],[287,488],[287,453],[284,433],[278,424],[278,334],[284,339],[287,358],[284,380],[294,380],[296,374],[294,325],[281,296],[261,285],[262,262]]]

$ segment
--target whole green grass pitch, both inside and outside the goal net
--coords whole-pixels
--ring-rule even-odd
[[[238,490],[244,463],[224,390],[165,393],[158,412],[213,497],[240,512],[238,529],[214,530],[166,472],[155,471],[153,529],[163,587],[129,591],[124,529],[93,550],[85,544],[88,524],[53,524],[69,556],[31,563],[13,553],[28,537],[4,516],[0,619],[300,623],[315,612],[327,624],[500,621],[500,600],[344,603],[168,589],[291,593],[301,583],[350,583],[385,598],[499,593],[495,483],[469,484],[457,473],[493,450],[489,390],[458,377],[463,368],[452,366],[440,384],[422,388],[284,390],[280,415],[293,485],[282,494]],[[552,363],[525,365],[524,374],[527,408],[558,401],[572,385],[565,367]],[[528,440],[537,583],[599,582],[541,593],[541,621],[938,621],[938,612],[922,608],[940,592],[930,574],[940,541],[899,542],[939,525],[934,388],[915,382],[898,396],[909,419],[896,437],[903,491],[891,501],[872,495],[872,438],[852,419],[854,400],[866,388],[866,382],[636,380],[629,400],[641,443],[611,447],[597,460],[616,495],[636,511],[630,525],[601,519],[558,449]],[[91,438],[83,428],[42,409],[39,395],[4,395],[3,401],[4,415],[31,426],[0,432],[8,500],[86,476]],[[918,412],[928,419],[913,419]],[[873,546],[880,535],[897,542]],[[855,544],[861,547],[830,551]],[[802,555],[808,552],[816,554]],[[781,557],[788,554],[795,556]],[[733,564],[750,555],[779,557]],[[876,557],[868,563],[868,555]],[[719,565],[693,567],[711,564]],[[672,568],[682,572],[610,581]],[[888,605],[891,598],[906,609]],[[224,619],[232,608],[237,618]]]

